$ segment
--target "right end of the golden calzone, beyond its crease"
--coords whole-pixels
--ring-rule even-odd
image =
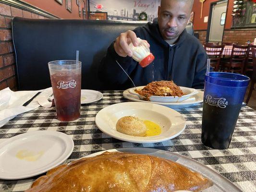
[[[146,192],[158,191],[159,188],[165,192],[177,190],[201,192],[213,185],[207,178],[178,163],[154,156],[149,158],[152,163],[152,173]]]

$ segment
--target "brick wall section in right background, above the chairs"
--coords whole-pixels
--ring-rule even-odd
[[[223,42],[238,43],[245,45],[248,40],[254,42],[256,37],[256,29],[247,30],[225,30],[223,35]]]

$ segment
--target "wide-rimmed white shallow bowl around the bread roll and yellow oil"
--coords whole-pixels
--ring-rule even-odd
[[[142,120],[150,120],[161,127],[156,136],[132,136],[116,131],[117,121],[124,116],[135,116]],[[177,111],[161,105],[142,102],[126,102],[110,105],[101,109],[95,122],[102,132],[122,141],[134,143],[157,143],[180,135],[186,127],[186,121]]]

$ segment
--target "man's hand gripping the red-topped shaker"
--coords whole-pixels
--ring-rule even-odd
[[[138,46],[138,39],[136,34],[133,31],[129,30],[124,33],[121,33],[120,36],[116,38],[116,41],[114,43],[114,48],[116,53],[121,57],[126,57],[127,55],[132,57],[133,52],[129,48],[129,44],[131,42],[133,42],[134,47]],[[149,47],[149,44],[148,44],[148,47]]]

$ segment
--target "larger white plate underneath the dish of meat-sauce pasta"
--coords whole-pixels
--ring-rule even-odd
[[[197,94],[195,94],[194,96],[191,96],[191,97],[195,97],[195,100],[193,100],[193,101],[188,100],[188,101],[183,101],[183,102],[180,102],[180,103],[163,103],[163,102],[144,101],[144,100],[141,100],[138,96],[129,93],[129,89],[126,89],[122,93],[122,95],[125,98],[127,98],[127,99],[129,99],[131,101],[155,103],[155,104],[163,105],[163,106],[166,106],[166,107],[169,107],[169,108],[186,108],[186,107],[189,107],[189,106],[194,105],[196,103],[202,103],[203,102],[204,92],[201,91],[201,90],[197,90],[197,91],[198,91]]]

